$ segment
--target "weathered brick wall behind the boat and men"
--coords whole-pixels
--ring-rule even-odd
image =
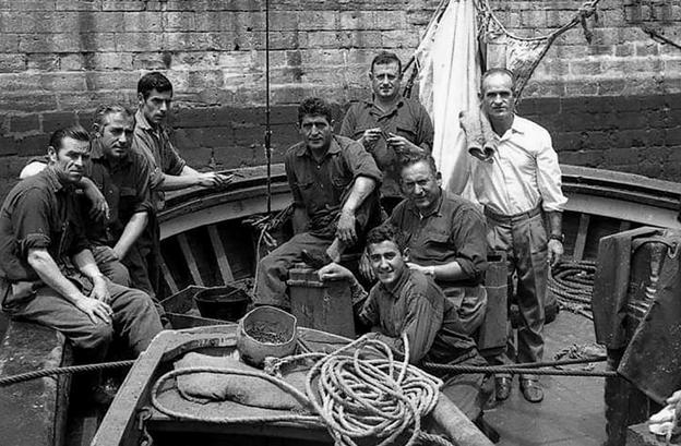
[[[373,55],[385,48],[407,60],[439,1],[271,3],[273,147],[280,160],[297,137],[295,104],[325,96],[339,119],[342,107],[368,94]],[[537,36],[566,23],[582,1],[491,4],[511,33]],[[528,84],[523,111],[554,131],[563,161],[681,179],[666,166],[681,144],[673,100],[681,50],[643,31],[681,44],[681,5],[599,7],[598,22],[588,21],[592,44],[578,28],[561,36]],[[175,84],[174,137],[190,164],[264,162],[264,0],[0,0],[0,193],[27,157],[45,152],[56,128],[87,125],[101,103],[134,105],[136,81],[148,70]],[[503,55],[503,46],[490,47],[490,57]],[[634,162],[647,159],[649,167]]]

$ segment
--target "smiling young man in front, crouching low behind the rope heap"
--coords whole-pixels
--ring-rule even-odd
[[[402,335],[409,341],[409,362],[487,365],[475,341],[463,329],[456,309],[444,297],[432,276],[407,265],[399,232],[389,225],[367,234],[371,269],[379,282],[369,296],[347,268],[332,263],[319,270],[320,280],[350,280],[353,302],[360,320],[370,325],[377,338],[404,354]],[[490,393],[481,374],[440,374],[442,391],[470,420],[482,413]],[[491,383],[491,381],[489,381]]]

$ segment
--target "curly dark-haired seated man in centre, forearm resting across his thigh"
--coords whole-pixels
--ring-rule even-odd
[[[328,105],[319,98],[303,100],[298,125],[303,141],[286,152],[284,162],[294,194],[294,222],[306,230],[260,261],[256,304],[288,308],[285,280],[303,251],[325,250],[327,261],[337,262],[380,221],[381,171],[359,143],[333,134]]]

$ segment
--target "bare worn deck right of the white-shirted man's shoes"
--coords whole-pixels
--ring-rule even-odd
[[[573,343],[594,341],[592,321],[569,312],[546,327],[545,361]],[[597,371],[605,370],[598,363]],[[604,378],[543,376],[545,399],[527,402],[517,376],[511,397],[486,412],[486,420],[499,431],[500,446],[599,446],[606,439]]]

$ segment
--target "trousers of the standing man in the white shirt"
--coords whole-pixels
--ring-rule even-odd
[[[543,354],[545,300],[548,287],[547,233],[543,214],[535,210],[527,217],[500,218],[486,210],[489,248],[505,251],[509,289],[517,274],[517,304],[522,315],[518,328],[517,362],[540,362]],[[536,378],[535,375],[524,375]]]

